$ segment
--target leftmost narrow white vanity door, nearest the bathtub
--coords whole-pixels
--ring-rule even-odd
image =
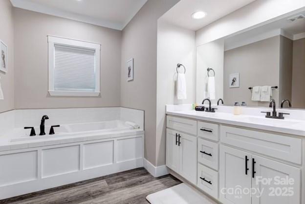
[[[179,146],[176,143],[178,132],[166,130],[166,165],[173,171],[179,173]]]

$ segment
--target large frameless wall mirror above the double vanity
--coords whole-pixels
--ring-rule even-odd
[[[305,11],[198,46],[196,69],[197,103],[209,97],[214,76],[213,103],[268,107],[288,99],[305,108]]]

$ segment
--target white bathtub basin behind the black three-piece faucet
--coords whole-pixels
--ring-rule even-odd
[[[74,124],[65,124],[60,127],[54,128],[54,135],[48,135],[48,131],[51,126],[45,126],[44,136],[39,136],[40,127],[34,127],[36,136],[29,136],[30,129],[24,130],[23,128],[16,128],[6,135],[10,137],[11,142],[20,142],[20,141],[35,141],[35,140],[44,140],[50,138],[61,138],[61,137],[73,137],[73,136],[85,136],[92,134],[102,134],[102,133],[111,133],[117,131],[133,130],[136,129],[131,125],[128,125],[125,121],[112,120],[104,122],[92,122],[92,123],[74,123]]]

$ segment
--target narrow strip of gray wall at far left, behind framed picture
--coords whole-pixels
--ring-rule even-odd
[[[4,100],[0,100],[0,113],[14,109],[14,22],[13,7],[9,0],[0,0],[0,40],[8,46],[8,72],[0,71]]]

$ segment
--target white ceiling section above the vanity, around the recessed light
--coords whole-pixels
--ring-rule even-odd
[[[198,30],[221,17],[253,2],[254,0],[181,0],[161,19],[190,30]],[[207,16],[200,20],[192,19],[196,11],[205,11]]]

